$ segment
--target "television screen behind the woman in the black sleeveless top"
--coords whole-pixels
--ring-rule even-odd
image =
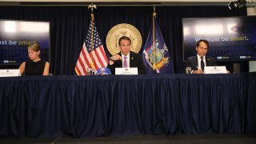
[[[25,62],[34,41],[41,46],[40,57],[50,62],[50,22],[0,20],[0,65]]]

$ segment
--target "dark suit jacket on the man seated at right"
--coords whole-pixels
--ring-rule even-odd
[[[216,66],[216,61],[214,58],[206,57],[206,66]],[[198,70],[197,55],[186,58],[186,67],[191,67],[191,70]]]

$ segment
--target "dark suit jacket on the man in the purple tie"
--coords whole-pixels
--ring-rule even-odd
[[[122,56],[121,52],[118,54]],[[115,61],[113,65],[108,64],[107,67],[111,70],[112,74],[115,74],[114,69],[116,67],[122,67],[122,60]],[[130,51],[130,67],[138,67],[138,74],[146,74],[141,54],[136,54],[133,51]]]

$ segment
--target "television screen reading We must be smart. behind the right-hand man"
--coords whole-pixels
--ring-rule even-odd
[[[256,60],[256,17],[184,18],[183,60],[196,54],[196,42],[206,39],[207,55],[217,61]]]

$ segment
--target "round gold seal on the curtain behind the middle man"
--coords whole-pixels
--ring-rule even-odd
[[[118,24],[109,31],[106,35],[106,48],[109,50],[110,54],[117,54],[120,49],[118,45],[118,40],[122,36],[126,36],[130,38],[131,45],[130,50],[138,53],[142,47],[142,35],[136,29],[136,27],[127,24],[121,23]]]

